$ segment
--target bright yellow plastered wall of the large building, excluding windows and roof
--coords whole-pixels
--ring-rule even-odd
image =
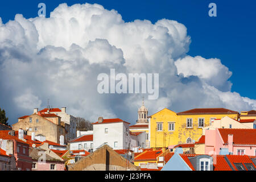
[[[199,118],[204,118],[205,127],[209,126],[210,118],[221,119],[228,115],[237,119],[238,114],[187,114],[177,115],[169,109],[160,110],[158,113],[151,115],[150,121],[150,147],[163,147],[175,144],[186,143],[190,137],[197,141],[203,134],[203,128],[198,126]],[[192,128],[187,128],[187,118],[192,118]],[[163,122],[163,131],[156,131],[156,123]],[[175,130],[168,131],[168,123],[175,123]],[[165,135],[164,135],[165,133]],[[164,137],[165,136],[165,137]],[[156,144],[155,144],[156,140]]]

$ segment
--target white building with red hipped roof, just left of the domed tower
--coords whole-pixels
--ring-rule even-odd
[[[122,119],[103,119],[98,118],[93,123],[93,151],[97,150],[102,144],[108,144],[114,150],[127,149],[128,147],[142,147],[146,142],[146,134],[131,133],[129,122]]]

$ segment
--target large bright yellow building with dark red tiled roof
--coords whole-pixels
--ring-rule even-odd
[[[214,119],[225,116],[238,119],[238,115],[237,111],[225,108],[191,109],[180,113],[165,108],[150,117],[150,147],[193,143],[203,134],[203,127]]]

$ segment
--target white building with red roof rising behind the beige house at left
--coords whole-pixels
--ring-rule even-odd
[[[60,121],[67,123],[69,125],[69,129],[68,129],[68,138],[67,141],[70,141],[74,138],[76,138],[76,123],[77,123],[77,119],[76,117],[73,117],[73,115],[67,114],[66,113],[66,107],[61,107],[61,109],[59,108],[45,108],[43,110],[38,111],[38,109],[34,109],[34,113],[52,113],[52,114],[56,114],[59,117],[61,117]]]

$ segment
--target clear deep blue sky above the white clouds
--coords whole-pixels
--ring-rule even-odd
[[[177,20],[188,28],[192,43],[188,54],[205,58],[217,57],[233,72],[232,92],[256,99],[256,11],[255,1],[1,1],[0,17],[3,23],[13,20],[15,14],[25,18],[37,16],[38,3],[47,6],[47,17],[60,3],[99,3],[105,9],[115,9],[123,20],[158,19]],[[208,16],[208,5],[217,5],[217,17]]]

